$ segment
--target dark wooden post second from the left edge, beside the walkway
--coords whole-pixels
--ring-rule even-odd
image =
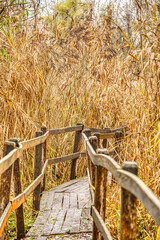
[[[18,139],[11,138],[9,139],[11,142],[15,142],[16,147],[19,147]],[[14,162],[13,168],[13,181],[14,181],[14,197],[18,196],[22,193],[21,180],[20,180],[20,160]],[[24,230],[24,215],[23,215],[23,204],[15,210],[15,219],[16,219],[16,232],[17,232],[17,240],[25,237]]]

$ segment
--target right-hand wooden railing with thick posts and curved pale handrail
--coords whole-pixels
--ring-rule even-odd
[[[111,158],[106,149],[100,149],[100,139],[102,145],[106,146],[106,138],[116,137],[121,141],[123,132],[112,133],[103,132],[91,135],[91,129],[86,129],[82,133],[82,140],[88,154],[88,177],[92,196],[91,215],[93,217],[93,240],[111,240],[111,234],[105,225],[106,211],[106,183],[107,171],[110,171],[115,181],[121,186],[121,240],[136,240],[136,199],[138,198],[149,211],[155,221],[160,225],[160,200],[137,176],[138,166],[136,162],[124,162],[122,168]],[[117,142],[118,142],[117,141]]]

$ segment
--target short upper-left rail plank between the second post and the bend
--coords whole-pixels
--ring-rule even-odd
[[[44,135],[21,142],[21,145],[23,147],[23,150],[26,150],[28,148],[33,148],[39,144],[42,144],[46,141],[46,139],[49,136],[49,131],[47,131]]]

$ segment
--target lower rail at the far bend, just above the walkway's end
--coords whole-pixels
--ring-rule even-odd
[[[48,165],[52,165],[59,162],[65,162],[65,161],[69,161],[69,160],[73,160],[73,159],[77,159],[79,157],[85,157],[85,156],[86,156],[86,153],[76,152],[63,157],[51,158],[51,159],[48,159]]]

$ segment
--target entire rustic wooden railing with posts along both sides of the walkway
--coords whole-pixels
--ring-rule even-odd
[[[121,197],[121,239],[136,239],[136,197],[142,201],[156,222],[160,224],[160,201],[150,189],[135,175],[137,164],[127,162],[121,168],[109,155],[118,151],[118,142],[121,141],[127,128],[111,130],[95,129],[77,124],[75,127],[47,130],[42,127],[31,140],[19,142],[11,138],[5,142],[4,157],[0,160],[1,188],[0,188],[0,237],[5,239],[6,224],[12,211],[15,210],[17,239],[25,236],[23,203],[33,192],[33,209],[40,208],[41,189],[45,190],[45,173],[48,165],[72,160],[70,179],[76,178],[76,164],[79,157],[88,156],[88,176],[91,186],[93,217],[93,239],[112,239],[105,226],[105,199],[107,171],[110,171],[117,183],[122,187]],[[47,139],[50,136],[75,132],[73,154],[54,159],[46,159]],[[91,135],[93,133],[94,135]],[[106,147],[107,139],[115,138],[114,151],[107,152],[99,149],[100,139]],[[86,153],[80,152],[81,139]],[[22,192],[20,158],[23,151],[35,147],[34,181]],[[13,176],[13,179],[12,179]],[[11,181],[14,185],[14,198],[10,200]],[[95,189],[95,193],[94,190]],[[103,193],[103,194],[102,194]]]

